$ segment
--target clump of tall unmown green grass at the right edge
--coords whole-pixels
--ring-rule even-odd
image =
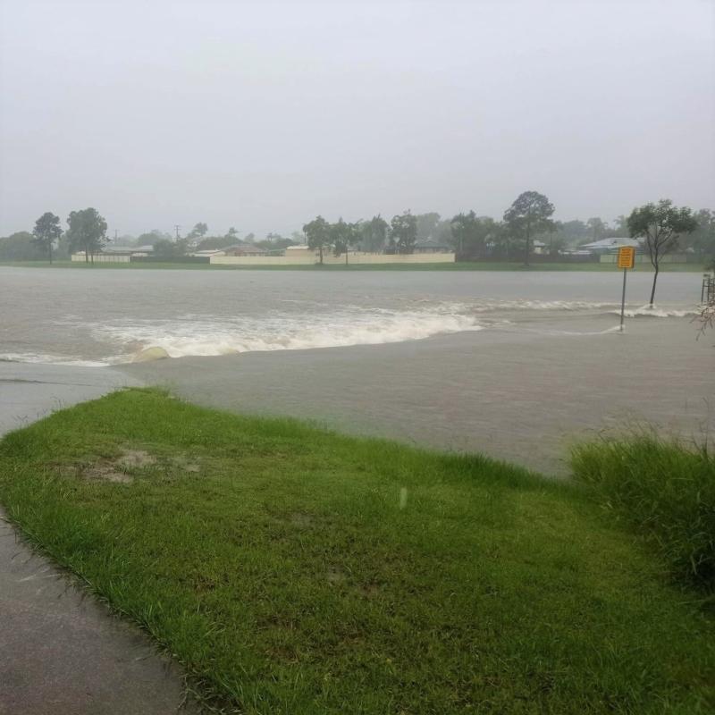
[[[571,467],[654,545],[677,581],[715,592],[715,454],[636,434],[577,445]]]

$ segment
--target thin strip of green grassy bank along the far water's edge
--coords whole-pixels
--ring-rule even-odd
[[[618,272],[615,264],[601,263],[537,263],[524,265],[521,262],[465,261],[464,263],[425,263],[425,264],[375,264],[375,265],[218,265],[207,263],[84,263],[83,261],[55,261],[50,265],[46,261],[0,262],[23,268],[76,268],[79,270],[146,270],[146,269],[181,269],[189,271],[613,271]],[[704,267],[697,263],[663,264],[661,272],[687,271],[702,273]],[[650,264],[638,264],[636,271],[652,273]]]

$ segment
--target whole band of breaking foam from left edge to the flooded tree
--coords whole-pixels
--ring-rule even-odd
[[[366,302],[374,301],[366,296]],[[395,304],[397,303],[397,305]],[[67,366],[105,366],[154,360],[162,357],[203,357],[244,352],[301,350],[378,345],[418,341],[433,336],[495,328],[509,332],[539,332],[552,335],[599,335],[616,329],[587,322],[592,318],[618,315],[613,302],[585,300],[495,299],[474,297],[467,300],[398,298],[389,307],[361,306],[357,301],[335,304],[299,299],[282,299],[278,305],[219,307],[220,314],[185,313],[173,315],[131,315],[106,322],[88,322],[79,315],[64,315],[63,335],[77,336],[60,342],[68,354],[49,354],[53,348],[37,353],[23,351],[0,354],[0,361],[44,363]],[[133,311],[136,314],[136,311]],[[560,314],[560,316],[559,316]],[[693,307],[634,307],[626,315],[634,317],[684,317],[696,315]],[[568,322],[552,324],[551,318]],[[585,320],[580,321],[581,318]],[[595,328],[595,330],[594,330]],[[83,356],[73,354],[78,345],[86,346]],[[8,346],[10,347],[10,346]],[[28,346],[29,347],[29,346]],[[60,352],[61,350],[58,350]]]

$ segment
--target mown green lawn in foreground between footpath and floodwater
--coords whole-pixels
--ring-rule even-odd
[[[131,481],[92,477],[113,469]],[[215,706],[715,709],[694,593],[586,490],[519,467],[132,390],[7,435],[0,500]]]

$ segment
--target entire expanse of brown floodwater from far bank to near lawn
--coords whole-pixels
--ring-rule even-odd
[[[661,274],[654,310],[651,280],[629,274],[621,334],[616,271],[0,267],[0,360],[39,380],[47,363],[114,365],[207,406],[566,474],[569,442],[603,430],[646,421],[712,439],[715,336],[696,340],[692,323],[701,276]],[[171,358],[134,362],[147,349]]]

